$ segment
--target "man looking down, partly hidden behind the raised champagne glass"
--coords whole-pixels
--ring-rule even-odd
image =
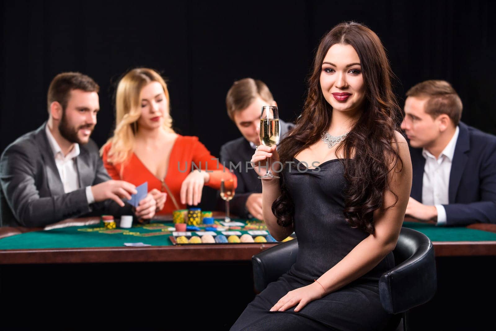
[[[238,187],[234,198],[230,201],[230,209],[243,218],[263,218],[261,181],[255,171],[247,167],[256,146],[260,144],[262,106],[277,106],[277,103],[267,85],[260,80],[252,78],[238,80],[234,82],[226,96],[227,115],[243,136],[222,145],[220,161],[226,167],[233,169],[238,177]],[[279,119],[281,139],[291,128],[291,124]],[[241,166],[237,167],[238,164]],[[223,208],[223,204],[220,204],[220,208]]]

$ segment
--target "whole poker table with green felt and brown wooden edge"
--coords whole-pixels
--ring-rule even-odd
[[[219,213],[216,213],[218,216]],[[0,239],[0,264],[40,263],[125,263],[187,261],[250,261],[251,257],[277,243],[173,245],[169,237],[174,226],[169,217],[130,229],[107,230],[99,218],[62,222],[45,230],[26,231]],[[170,219],[170,218],[169,218]],[[256,224],[245,219],[234,221]],[[78,223],[79,222],[79,223]],[[84,224],[83,226],[71,226]],[[436,257],[496,256],[496,225],[439,227],[404,222],[403,226],[426,234],[434,244]],[[0,228],[0,235],[1,235]],[[242,234],[246,230],[240,230]],[[142,242],[148,247],[125,247]]]

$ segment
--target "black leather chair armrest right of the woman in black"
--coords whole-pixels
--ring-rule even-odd
[[[407,230],[412,231],[411,229]],[[437,288],[434,247],[429,238],[427,240],[428,242],[417,246],[410,258],[383,273],[380,277],[380,302],[388,313],[406,312],[434,297]]]

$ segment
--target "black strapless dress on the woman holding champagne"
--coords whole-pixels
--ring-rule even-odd
[[[293,165],[281,172],[295,204],[297,261],[255,297],[231,330],[382,330],[393,318],[382,308],[378,288],[381,274],[394,266],[392,253],[364,276],[300,312],[294,312],[296,306],[269,312],[289,291],[311,284],[368,236],[345,221],[343,164],[336,159],[319,168],[317,172],[300,164],[299,170]]]

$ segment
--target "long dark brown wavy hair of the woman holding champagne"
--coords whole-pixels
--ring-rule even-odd
[[[391,88],[394,75],[386,52],[371,29],[356,22],[346,22],[336,25],[323,36],[313,61],[302,115],[291,133],[281,141],[278,151],[281,162],[286,165],[286,161],[291,161],[300,151],[316,143],[322,132],[327,132],[332,107],[322,94],[320,72],[327,51],[334,44],[353,46],[360,58],[366,85],[361,116],[336,149],[336,154],[344,157],[341,162],[349,184],[344,192],[344,215],[351,227],[372,234],[375,230],[373,212],[382,207],[384,193],[389,189],[388,174],[396,169],[398,162],[402,167],[394,143],[402,113]],[[281,196],[272,204],[272,212],[279,225],[289,226],[293,223],[294,204],[283,178],[280,183]],[[387,208],[390,207],[392,205]]]

